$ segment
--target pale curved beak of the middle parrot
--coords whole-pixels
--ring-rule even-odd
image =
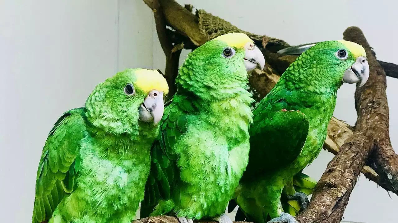
[[[265,58],[261,50],[254,44],[250,43],[246,47],[244,64],[246,67],[246,71],[251,73],[256,67],[264,69],[265,66]]]

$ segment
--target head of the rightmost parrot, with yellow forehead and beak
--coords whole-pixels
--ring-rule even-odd
[[[312,61],[308,63],[308,60],[301,60],[307,62],[305,65],[303,63],[304,67],[300,69],[307,69],[317,75],[326,74],[326,77],[318,76],[315,79],[327,79],[327,83],[332,82],[332,85],[338,87],[342,83],[359,83],[359,87],[362,87],[369,78],[365,49],[355,42],[347,40],[319,42],[298,57],[298,65],[299,58],[308,58]],[[324,70],[319,72],[319,69]]]

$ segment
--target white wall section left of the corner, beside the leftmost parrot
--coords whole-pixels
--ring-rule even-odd
[[[1,1],[1,222],[31,222],[57,118],[117,71],[152,67],[152,20],[141,0]]]

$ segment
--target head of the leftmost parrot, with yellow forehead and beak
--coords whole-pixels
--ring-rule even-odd
[[[90,94],[86,101],[88,120],[115,134],[137,131],[142,122],[156,127],[167,93],[166,79],[158,71],[126,69],[97,85]]]

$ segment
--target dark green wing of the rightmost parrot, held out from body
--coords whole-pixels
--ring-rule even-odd
[[[275,171],[300,155],[309,123],[304,113],[298,111],[306,105],[301,102],[298,106],[295,98],[294,92],[273,89],[254,109],[249,165],[244,175]]]

